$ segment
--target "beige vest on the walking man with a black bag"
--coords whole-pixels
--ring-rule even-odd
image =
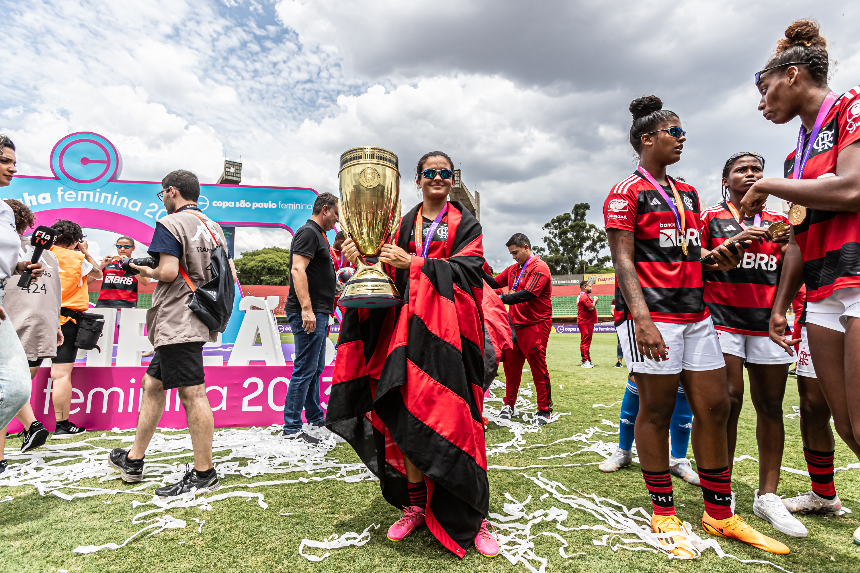
[[[217,222],[212,221],[200,211],[193,211],[199,218],[188,211],[173,213],[158,219],[158,222],[176,237],[182,246],[182,258],[179,264],[188,274],[194,286],[200,288],[212,278],[206,271],[209,266],[212,251],[216,243],[212,234],[218,238],[218,244],[226,245],[224,232]],[[206,229],[208,226],[209,229]],[[212,230],[212,234],[209,233]],[[228,270],[229,272],[229,270]],[[146,313],[146,332],[154,348],[163,344],[179,344],[181,342],[215,342],[218,332],[210,331],[203,321],[188,308],[191,304],[191,289],[185,283],[181,273],[176,275],[172,283],[159,281],[152,294],[152,308]]]

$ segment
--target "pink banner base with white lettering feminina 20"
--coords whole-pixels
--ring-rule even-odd
[[[292,363],[286,366],[206,366],[206,396],[212,405],[216,428],[231,426],[269,426],[284,423],[286,388],[292,376]],[[320,402],[326,410],[334,365],[320,376]],[[71,374],[71,413],[69,419],[87,430],[127,430],[138,423],[140,380],[146,366],[76,366]],[[39,369],[33,379],[30,405],[36,419],[48,430],[54,429],[51,403],[51,369]],[[304,418],[304,414],[303,414]],[[165,391],[164,414],[160,428],[187,428],[185,408],[177,390]],[[22,430],[14,419],[9,432]]]

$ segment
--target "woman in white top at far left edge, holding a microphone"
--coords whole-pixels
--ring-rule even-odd
[[[0,135],[0,187],[8,186],[15,177],[15,143]],[[0,201],[0,428],[5,428],[15,414],[30,399],[30,377],[27,354],[12,321],[3,310],[3,298],[7,288],[14,288],[10,280],[13,275],[30,269],[33,278],[42,274],[42,264],[30,265],[18,261],[21,240],[15,231],[15,213]],[[32,283],[32,282],[31,282]],[[2,470],[5,467],[0,467]]]

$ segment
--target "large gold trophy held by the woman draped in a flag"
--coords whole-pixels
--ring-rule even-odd
[[[397,167],[397,155],[380,147],[356,147],[341,155],[341,228],[359,248],[355,274],[344,285],[338,302],[344,307],[385,308],[403,303],[394,281],[376,258],[400,224]]]

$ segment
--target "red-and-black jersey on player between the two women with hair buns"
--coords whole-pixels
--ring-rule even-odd
[[[753,217],[746,218],[747,226]],[[761,226],[769,227],[788,217],[775,210],[761,213]],[[702,246],[713,250],[743,230],[728,210],[725,201],[702,212]],[[767,336],[771,308],[777,296],[783,246],[753,241],[743,259],[731,271],[704,271],[704,302],[708,305],[717,330]]]

